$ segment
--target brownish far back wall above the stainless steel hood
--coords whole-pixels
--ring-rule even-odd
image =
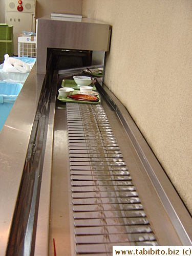
[[[81,14],[82,0],[36,0],[36,18],[52,12]]]

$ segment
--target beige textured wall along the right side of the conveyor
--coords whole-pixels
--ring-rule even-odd
[[[105,84],[122,101],[192,214],[191,0],[83,0],[113,26]]]

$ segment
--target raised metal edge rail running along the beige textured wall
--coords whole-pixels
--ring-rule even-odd
[[[105,95],[105,98],[113,105],[118,118],[123,124],[123,127],[132,141],[132,144],[137,152],[137,155],[144,167],[144,170],[150,181],[156,189],[156,192],[167,212],[174,229],[183,245],[192,244],[192,219],[185,205],[180,199],[177,191],[172,183],[167,178],[164,170],[159,164],[157,158],[153,154],[151,148],[146,143],[140,133],[135,122],[124,108],[122,103],[110,92],[110,90],[100,80],[100,92]],[[122,144],[124,146],[124,144]],[[140,189],[140,187],[139,187]]]

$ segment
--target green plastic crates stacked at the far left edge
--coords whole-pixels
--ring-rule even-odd
[[[4,61],[4,55],[13,56],[13,26],[0,24],[0,61]]]

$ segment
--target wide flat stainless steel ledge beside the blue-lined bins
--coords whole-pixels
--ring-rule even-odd
[[[44,75],[33,66],[0,134],[0,254],[5,255]]]

